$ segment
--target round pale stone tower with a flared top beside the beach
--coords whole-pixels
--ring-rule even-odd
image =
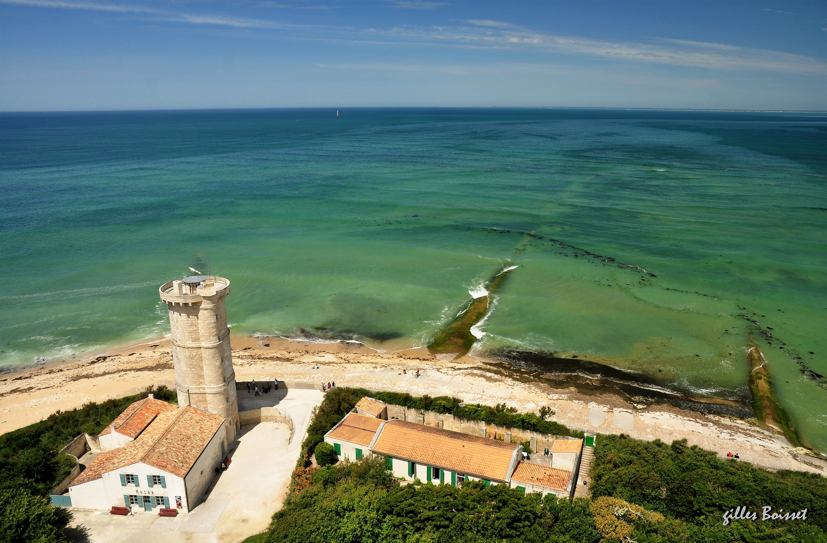
[[[236,372],[232,369],[230,329],[224,300],[230,282],[193,275],[160,287],[170,309],[172,361],[178,405],[191,405],[227,419],[227,440],[238,424]]]

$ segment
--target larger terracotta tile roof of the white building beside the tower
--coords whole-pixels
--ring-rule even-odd
[[[196,407],[173,406],[171,410],[158,413],[135,441],[98,455],[71,486],[99,479],[109,471],[139,462],[184,477],[223,422],[222,417]]]

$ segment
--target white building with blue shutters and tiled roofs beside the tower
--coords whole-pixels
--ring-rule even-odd
[[[224,422],[153,398],[131,404],[102,432],[101,454],[69,486],[72,507],[189,512],[227,454]],[[103,447],[120,441],[125,444]]]

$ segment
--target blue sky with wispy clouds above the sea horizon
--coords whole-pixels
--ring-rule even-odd
[[[0,110],[827,109],[827,2],[0,0]]]

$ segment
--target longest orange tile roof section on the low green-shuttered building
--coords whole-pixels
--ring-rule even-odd
[[[514,450],[520,447],[516,443],[393,420],[382,426],[372,450],[380,455],[504,481],[509,475]]]

